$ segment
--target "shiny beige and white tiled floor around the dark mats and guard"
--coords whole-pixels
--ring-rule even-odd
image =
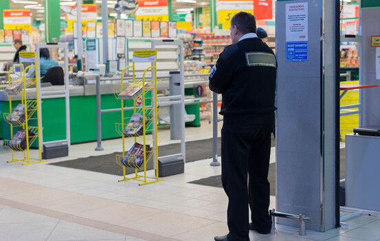
[[[220,126],[219,126],[220,128]],[[186,128],[186,140],[211,137],[211,128]],[[161,145],[168,129],[159,131]],[[126,145],[133,140],[128,140]],[[2,144],[2,143],[0,143]],[[93,151],[96,143],[72,145],[68,158],[120,151],[120,140],[102,143],[104,151]],[[274,147],[271,162],[275,162]],[[211,150],[210,150],[211,151]],[[32,150],[32,156],[36,151]],[[40,163],[22,166],[6,163],[11,153],[0,147],[0,241],[2,240],[214,240],[227,233],[227,198],[223,189],[188,182],[221,173],[211,160],[186,163],[185,174],[163,182],[139,186],[135,181],[118,182],[120,176],[69,169]],[[148,176],[154,176],[148,171]],[[271,197],[274,207],[275,197]],[[346,213],[342,213],[346,215]],[[307,231],[300,238],[297,229],[277,226],[275,232],[251,240],[380,240],[380,217],[357,216],[348,227],[325,233]]]

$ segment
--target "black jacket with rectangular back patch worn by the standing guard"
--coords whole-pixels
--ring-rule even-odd
[[[276,69],[276,56],[259,38],[225,48],[209,76],[210,90],[222,94],[225,121],[273,114]]]

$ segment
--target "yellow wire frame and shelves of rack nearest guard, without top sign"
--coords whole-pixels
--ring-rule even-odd
[[[157,57],[157,50],[155,51],[155,56]],[[123,132],[123,129],[130,120],[131,117],[124,117],[124,99],[120,98],[120,95],[118,92],[115,92],[115,97],[120,99],[121,105],[122,105],[122,123],[116,123],[116,131],[122,136],[122,155],[116,155],[116,162],[122,167],[123,169],[123,178],[122,180],[119,180],[119,182],[122,182],[124,180],[138,180],[142,183],[139,185],[146,185],[153,182],[159,182],[163,179],[158,178],[158,139],[157,139],[157,114],[159,112],[157,108],[157,58],[155,59],[154,65],[147,67],[144,70],[144,73],[142,75],[142,79],[137,81],[135,78],[135,71],[136,66],[135,62],[133,62],[132,66],[125,67],[122,71],[122,79],[120,83],[120,88],[114,87],[114,90],[120,90],[120,93],[122,93],[126,87],[123,83],[124,73],[128,70],[132,69],[133,71],[133,83],[128,85],[128,87],[137,87],[142,86],[142,93],[138,96],[133,96],[131,99],[133,99],[133,113],[138,113],[142,115],[142,134],[135,134],[133,135],[133,138],[135,139],[135,143],[142,143],[143,146],[143,160],[142,163],[137,162],[137,154],[132,154],[126,151],[125,149],[125,138],[126,134]],[[153,78],[150,80],[146,79],[146,73],[148,70],[151,70]],[[148,92],[152,92],[150,97]],[[141,106],[137,106],[137,100],[141,101]],[[150,105],[149,103],[150,102]],[[148,103],[148,105],[146,105]],[[148,118],[149,116],[149,118]],[[147,137],[147,134],[152,132],[153,135],[151,138]],[[126,156],[128,154],[128,156]],[[153,160],[152,160],[153,159]],[[156,167],[156,174],[154,180],[147,181],[146,176],[146,163],[148,161],[154,161],[155,167]],[[135,176],[132,178],[126,178],[126,168],[135,169]],[[143,175],[139,175],[139,171],[144,171]]]

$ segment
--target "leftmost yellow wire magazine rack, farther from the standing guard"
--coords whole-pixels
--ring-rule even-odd
[[[35,78],[25,78],[25,73],[30,67],[35,67],[34,65],[29,65],[25,67],[25,70],[21,71],[21,78],[19,78],[16,83],[11,82],[10,73],[15,67],[20,67],[20,70],[23,70],[23,65],[20,63],[20,65],[14,65],[10,68],[10,71],[8,73],[9,78],[9,87],[11,85],[21,85],[21,89],[17,90],[14,88],[14,92],[12,94],[9,94],[9,108],[10,113],[12,113],[12,95],[21,95],[21,105],[23,105],[25,109],[25,120],[23,121],[10,121],[8,120],[8,116],[10,116],[10,113],[4,113],[3,118],[4,120],[10,125],[10,136],[14,136],[13,129],[14,127],[20,127],[23,129],[23,132],[25,132],[25,142],[26,145],[23,147],[21,143],[16,144],[12,142],[12,140],[4,140],[4,145],[8,149],[12,151],[12,160],[9,160],[8,163],[23,162],[23,165],[30,165],[34,163],[44,163],[46,160],[41,159],[41,137],[39,135],[39,124],[40,124],[40,108],[38,106],[39,98],[38,98],[38,85],[37,85],[37,76]],[[27,87],[30,87],[31,85],[36,86],[36,99],[30,99],[27,100]],[[5,90],[4,90],[5,91]],[[34,126],[36,125],[36,126]],[[30,159],[30,146],[34,143],[34,141],[38,140],[38,154],[39,159],[36,161],[31,161]],[[23,158],[21,159],[15,159],[14,157],[14,151],[20,151],[23,152]]]

